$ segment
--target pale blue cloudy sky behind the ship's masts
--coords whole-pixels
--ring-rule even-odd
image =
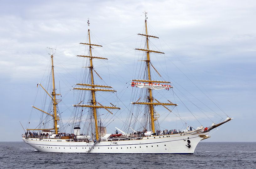
[[[151,61],[160,74],[167,74],[177,97],[204,126],[212,124],[208,117],[218,122],[209,108],[224,119],[225,113],[234,118],[206,141],[256,141],[253,132],[242,134],[253,130],[256,120],[255,1],[1,0],[0,4],[0,141],[21,141],[20,122],[27,125],[30,105],[40,107],[40,98],[35,101],[35,96],[42,90],[36,84],[46,81],[50,61],[46,47],[56,48],[55,75],[65,95],[63,102],[74,104],[69,91],[79,81],[82,62],[76,55],[84,52],[79,43],[85,42],[88,18],[92,41],[103,46],[95,50],[108,58],[103,63],[95,61],[95,69],[118,90],[122,102],[117,104],[129,107],[132,89],[126,83],[135,78],[134,65],[141,53],[134,49],[141,43],[137,33],[143,33],[144,11],[150,33],[159,37],[150,41],[152,49],[165,52],[152,55]],[[195,128],[200,126],[177,97],[175,111]],[[208,117],[188,99],[206,110]],[[68,119],[65,105],[60,111]],[[38,122],[39,112],[32,113],[30,123]],[[107,130],[122,126],[127,113],[125,108],[118,112],[116,123]],[[175,116],[163,115],[161,121],[163,128],[176,127]]]

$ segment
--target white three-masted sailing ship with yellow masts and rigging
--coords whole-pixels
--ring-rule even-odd
[[[114,133],[107,133],[106,120],[102,120],[102,112],[108,117],[114,111],[120,111],[121,108],[111,103],[107,96],[104,105],[99,100],[103,95],[115,95],[117,92],[113,87],[107,84],[96,83],[96,79],[102,79],[100,74],[94,69],[95,60],[101,61],[107,58],[95,56],[93,50],[101,45],[91,42],[91,35],[88,20],[88,34],[85,45],[88,49],[86,54],[77,55],[83,58],[83,67],[81,71],[80,82],[73,85],[72,90],[76,95],[75,103],[72,105],[72,118],[69,121],[71,131],[65,131],[67,125],[64,125],[59,110],[61,101],[60,93],[57,93],[54,73],[54,53],[51,52],[50,78],[47,88],[39,83],[38,87],[42,88],[48,97],[49,108],[44,110],[32,106],[33,109],[40,112],[40,123],[35,128],[24,129],[22,134],[24,143],[34,148],[34,151],[40,152],[66,152],[66,153],[173,153],[173,154],[193,154],[197,144],[204,139],[209,138],[209,132],[218,126],[227,123],[232,118],[227,117],[219,123],[209,124],[210,126],[199,126],[192,128],[183,126],[180,130],[161,130],[159,125],[159,116],[157,108],[161,107],[169,113],[177,104],[166,100],[162,102],[163,97],[157,98],[156,92],[168,92],[173,90],[173,86],[169,80],[162,79],[159,71],[151,62],[152,54],[164,54],[163,52],[150,49],[150,39],[158,39],[158,37],[148,34],[147,16],[145,13],[144,33],[139,36],[144,38],[144,47],[136,48],[142,53],[142,60],[138,62],[136,69],[137,78],[129,83],[132,88],[132,102],[129,105],[127,120],[123,127],[116,127]],[[53,49],[51,49],[52,51]],[[99,63],[99,62],[96,63]],[[153,76],[153,74],[157,76]],[[100,81],[101,82],[101,81]],[[75,82],[76,83],[76,82]],[[49,90],[50,89],[50,90]],[[103,94],[102,94],[103,93]],[[169,98],[168,98],[169,99]],[[44,105],[46,105],[44,100]],[[43,107],[42,106],[42,107]],[[111,120],[111,118],[110,118]],[[29,122],[30,123],[30,122]]]

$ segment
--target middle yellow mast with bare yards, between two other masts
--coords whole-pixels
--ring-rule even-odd
[[[91,90],[91,105],[73,105],[73,106],[78,106],[78,107],[91,107],[92,108],[92,112],[93,112],[93,117],[94,117],[94,123],[95,123],[95,134],[96,134],[96,140],[99,140],[99,131],[98,131],[98,122],[97,122],[97,109],[98,108],[103,108],[106,109],[108,112],[111,113],[111,111],[109,111],[108,109],[120,109],[118,107],[115,106],[103,106],[100,103],[98,103],[96,101],[96,96],[95,96],[95,91],[111,91],[111,92],[115,92],[115,90],[111,90],[111,89],[101,89],[101,88],[95,88],[95,87],[104,87],[104,88],[112,88],[111,86],[104,86],[104,85],[95,85],[94,84],[94,79],[93,79],[93,72],[95,72],[97,74],[97,72],[93,69],[93,63],[92,63],[92,59],[107,59],[107,58],[102,58],[102,57],[96,57],[96,56],[92,56],[92,46],[98,46],[98,47],[102,47],[101,45],[97,45],[97,44],[91,44],[91,37],[90,37],[90,23],[89,23],[89,19],[88,19],[88,40],[89,43],[80,43],[80,44],[84,44],[84,45],[89,45],[89,50],[90,50],[90,54],[89,56],[84,56],[84,55],[77,55],[79,57],[86,57],[86,58],[90,58],[90,74],[91,74],[91,84],[76,84],[76,85],[82,85],[82,86],[90,86],[91,88],[73,88],[76,90]],[[98,74],[97,74],[98,75]],[[97,103],[99,105],[97,105]],[[112,113],[111,113],[112,114]]]

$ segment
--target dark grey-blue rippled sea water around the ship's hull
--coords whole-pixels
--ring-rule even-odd
[[[0,168],[256,168],[256,142],[200,142],[192,155],[43,153],[0,142]]]

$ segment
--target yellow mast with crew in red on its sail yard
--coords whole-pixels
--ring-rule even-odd
[[[140,51],[144,51],[147,54],[146,60],[144,60],[146,62],[146,71],[148,73],[148,79],[145,80],[140,80],[140,79],[134,79],[132,81],[137,81],[137,82],[149,82],[152,85],[152,83],[170,83],[167,81],[158,81],[158,80],[152,80],[151,79],[151,74],[150,74],[150,65],[153,67],[153,65],[150,62],[150,55],[149,53],[153,52],[153,53],[159,53],[159,54],[164,54],[163,52],[159,52],[159,51],[153,51],[149,49],[149,37],[151,38],[158,38],[156,36],[152,36],[152,35],[148,35],[148,28],[147,28],[147,13],[145,12],[145,34],[138,34],[138,35],[142,35],[146,37],[146,49],[136,49],[136,50],[140,50]],[[153,67],[153,69],[155,69]],[[159,74],[159,72],[155,69],[155,71]],[[160,75],[160,74],[159,74]],[[171,86],[170,86],[171,87]],[[148,93],[149,95],[147,96],[148,102],[133,102],[132,104],[141,104],[141,105],[148,105],[149,106],[149,114],[150,114],[150,122],[151,122],[151,130],[153,131],[153,133],[155,133],[155,121],[157,120],[157,116],[156,113],[154,111],[154,105],[162,105],[163,107],[165,107],[165,105],[175,105],[173,103],[161,103],[158,100],[154,99],[153,94],[152,94],[152,89],[148,88]],[[154,100],[157,101],[157,103],[154,102]],[[166,109],[168,109],[167,107],[165,107]],[[168,109],[169,110],[169,109]],[[170,110],[169,110],[170,111]]]

